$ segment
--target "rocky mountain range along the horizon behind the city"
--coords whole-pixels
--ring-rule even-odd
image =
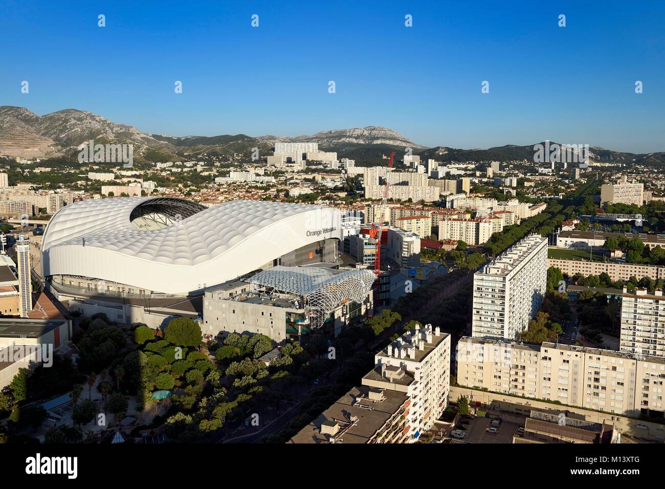
[[[440,162],[533,160],[533,144],[473,150],[445,146],[426,148],[395,130],[380,126],[327,130],[295,137],[245,134],[166,136],[148,134],[134,126],[117,124],[92,112],[73,108],[38,116],[27,108],[0,106],[0,154],[23,158],[59,156],[76,150],[90,139],[102,144],[132,143],[135,155],[154,161],[191,159],[203,153],[249,156],[255,147],[261,154],[269,154],[275,142],[289,141],[318,142],[322,149],[336,151],[339,158],[356,160],[380,159],[391,150],[401,155],[404,148],[412,148],[415,154],[420,154],[421,160],[434,158]],[[665,164],[665,152],[633,154],[593,147],[590,153],[593,161]]]

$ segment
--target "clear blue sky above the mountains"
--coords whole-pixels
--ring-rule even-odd
[[[174,136],[377,125],[426,146],[664,151],[664,24],[663,1],[1,0],[0,105]]]

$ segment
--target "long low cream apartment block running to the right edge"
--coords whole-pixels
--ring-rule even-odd
[[[465,337],[456,360],[456,379],[466,387],[624,416],[664,410],[662,357]]]

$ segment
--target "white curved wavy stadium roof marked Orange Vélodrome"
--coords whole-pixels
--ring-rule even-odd
[[[165,227],[155,228],[155,214],[166,215]],[[41,250],[45,276],[186,293],[340,237],[340,211],[322,206],[240,200],[205,208],[182,199],[126,197],[65,206],[49,221]]]

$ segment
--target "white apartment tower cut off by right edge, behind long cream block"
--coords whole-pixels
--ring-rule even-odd
[[[621,301],[620,351],[633,355],[665,357],[665,297],[662,290],[628,293]]]

